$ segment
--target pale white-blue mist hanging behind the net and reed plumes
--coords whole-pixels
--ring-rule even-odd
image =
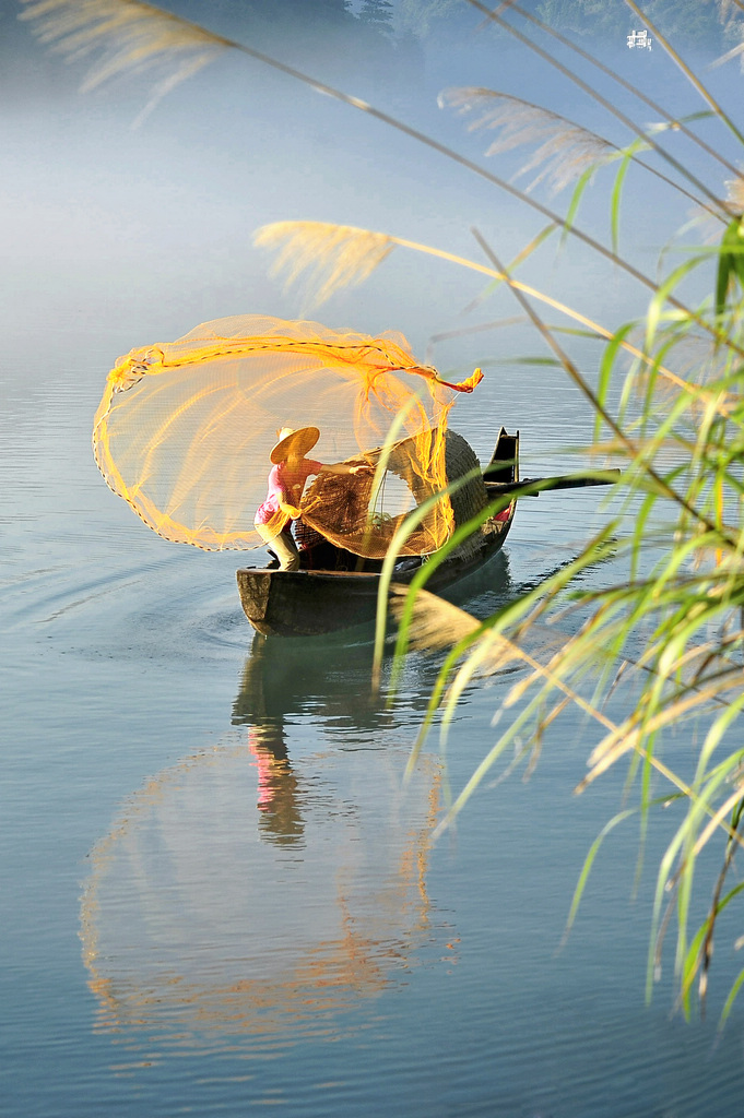
[[[362,34],[358,22],[333,23],[332,49],[326,23],[308,17],[314,7],[289,0],[269,6],[290,16],[257,27],[247,4],[192,2],[173,10],[208,17],[216,30],[257,41],[281,60],[369,100],[475,160],[488,133],[468,135],[465,122],[436,107],[436,95],[446,86],[506,89],[557,107],[616,142],[630,139],[565,78],[503,32],[482,28],[479,13],[467,4],[450,8],[449,19],[434,21],[418,39],[408,30],[402,41],[387,42],[369,29]],[[309,218],[369,227],[478,260],[482,256],[471,226],[509,259],[546,224],[414,140],[229,51],[133,129],[154,76],[81,95],[86,65],[50,55],[35,42],[29,23],[17,22],[16,10],[3,0],[3,326],[10,351],[22,345],[35,368],[43,357],[47,375],[54,376],[47,362],[53,354],[57,367],[67,364],[81,326],[87,345],[101,339],[113,344],[101,353],[103,375],[119,352],[175,338],[198,321],[241,312],[295,316],[299,295],[282,293],[267,277],[265,255],[252,247],[253,230],[269,221]],[[302,20],[292,16],[296,11],[304,13]],[[407,26],[412,22],[408,12]],[[418,27],[426,23],[420,20]],[[671,98],[675,110],[699,107],[658,48],[629,50],[624,35],[590,41],[625,76],[639,77],[667,103]],[[721,72],[716,79],[723,79]],[[616,92],[612,97],[623,100]],[[644,107],[633,106],[633,112],[641,123],[650,115]],[[508,178],[526,153],[481,161]],[[599,176],[581,220],[606,238],[603,177],[606,182],[609,172]],[[529,181],[527,174],[520,184]],[[668,205],[654,209],[649,197],[654,189],[643,172],[631,176],[623,226],[623,247],[648,271],[659,245],[686,217],[684,199],[671,212]],[[550,201],[545,187],[537,193]],[[558,208],[565,205],[557,200]],[[592,280],[600,273],[597,291]],[[622,276],[575,244],[557,255],[550,240],[520,274],[568,303],[581,301],[604,322],[644,305],[637,287],[628,288]],[[433,334],[518,313],[501,295],[463,318],[462,309],[482,286],[452,265],[396,250],[361,292],[339,294],[316,313],[329,325],[402,330],[420,351]],[[540,349],[536,339],[529,344]],[[524,345],[521,334],[481,335],[436,358],[467,368],[524,352]],[[501,385],[510,381],[500,370],[486,391],[496,391],[497,377]],[[8,379],[17,385],[19,378]]]

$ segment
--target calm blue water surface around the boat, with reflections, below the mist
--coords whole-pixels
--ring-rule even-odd
[[[433,739],[404,787],[436,662],[411,657],[386,710],[358,634],[254,642],[235,557],[145,532],[97,477],[90,411],[50,392],[3,421],[4,1112],[737,1114],[741,1018],[715,1046],[663,983],[643,1005],[632,828],[556,954],[620,802],[613,780],[572,797],[585,727],[431,849],[507,681],[465,695],[446,774]],[[555,500],[520,510],[472,608],[571,555]]]

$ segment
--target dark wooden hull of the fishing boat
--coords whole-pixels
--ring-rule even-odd
[[[458,439],[458,449],[464,439]],[[448,447],[449,448],[449,447]],[[467,447],[470,451],[469,447]],[[471,479],[452,494],[455,527],[480,512],[507,485],[518,481],[519,433],[501,428],[496,449],[482,477]],[[467,468],[448,470],[452,481],[462,477],[477,459],[470,451]],[[442,594],[478,571],[503,546],[516,501],[490,517],[462,544],[454,548],[427,580],[427,588]],[[396,582],[409,582],[426,557],[405,558],[395,568]],[[374,620],[377,609],[380,560],[360,559],[320,542],[301,552],[302,569],[243,568],[237,585],[245,615],[264,635],[310,636]]]

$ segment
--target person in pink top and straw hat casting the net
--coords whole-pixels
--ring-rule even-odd
[[[308,451],[320,438],[317,427],[300,427],[298,430],[283,427],[277,435],[279,442],[270,455],[274,466],[269,474],[269,492],[266,500],[256,510],[255,528],[262,540],[271,543],[279,559],[280,570],[299,570],[300,552],[292,536],[292,521],[300,518],[300,501],[308,477],[320,473],[370,473],[371,466],[350,466],[343,462],[327,466],[313,458],[305,458]]]

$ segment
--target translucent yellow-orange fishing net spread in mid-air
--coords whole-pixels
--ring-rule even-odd
[[[444,433],[459,385],[416,362],[401,334],[369,338],[317,322],[239,315],[178,341],[132,350],[109,373],[93,446],[111,489],[166,539],[207,550],[261,546],[301,513],[303,525],[360,556],[384,556],[412,504],[446,485]],[[314,426],[317,464],[375,465],[403,414],[383,484],[371,470],[321,471],[299,509],[282,503],[256,531],[280,428]],[[387,502],[387,503],[386,503]],[[436,502],[405,553],[441,547],[452,510]]]

